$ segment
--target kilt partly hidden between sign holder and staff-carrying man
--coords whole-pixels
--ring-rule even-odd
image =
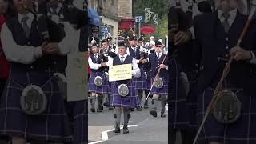
[[[146,82],[145,70],[143,70],[143,68],[141,68],[140,70],[141,77],[134,78],[135,90],[148,90],[148,82]]]

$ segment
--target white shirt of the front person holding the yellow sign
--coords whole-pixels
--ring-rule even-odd
[[[121,58],[121,57],[124,57],[122,60],[123,62],[126,60],[126,57],[127,57],[128,54],[124,54],[123,56],[118,54],[118,57]],[[121,61],[121,59],[120,59]],[[106,62],[106,66],[113,66],[113,59],[109,59],[108,62]],[[132,70],[132,75],[135,77],[135,78],[139,78],[141,76],[141,70],[139,70],[139,67],[138,67],[138,64],[136,62],[136,59],[133,58],[133,62],[132,62],[132,66],[133,66],[133,70]]]

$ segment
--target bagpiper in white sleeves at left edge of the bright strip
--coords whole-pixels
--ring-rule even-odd
[[[91,93],[90,111],[95,112],[96,97],[98,99],[97,112],[102,112],[102,98],[103,94],[110,93],[110,86],[104,73],[104,67],[102,66],[102,59],[99,55],[99,49],[97,44],[92,45],[92,53],[88,58],[88,64],[91,69],[91,74],[88,83],[88,91]]]

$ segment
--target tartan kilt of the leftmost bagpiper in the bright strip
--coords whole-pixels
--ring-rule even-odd
[[[97,76],[102,77],[102,80],[103,80],[102,86],[96,86],[94,84],[94,79]],[[98,93],[98,94],[110,94],[110,85],[106,78],[106,75],[103,72],[92,72],[90,74],[88,91],[91,93]]]

